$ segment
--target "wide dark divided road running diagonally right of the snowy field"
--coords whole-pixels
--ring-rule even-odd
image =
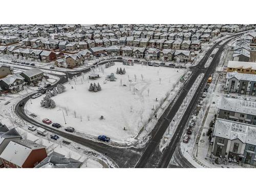
[[[234,35],[238,36],[238,35]],[[229,37],[230,38],[230,37]],[[170,159],[172,158],[176,147],[178,146],[180,142],[180,138],[182,136],[182,133],[184,132],[184,129],[186,127],[186,123],[190,117],[190,114],[193,112],[193,109],[195,108],[199,97],[201,96],[201,93],[203,91],[203,88],[206,84],[206,81],[209,77],[209,75],[213,74],[215,72],[216,66],[218,65],[220,61],[221,53],[224,49],[224,46],[230,41],[231,39],[227,40],[223,45],[215,44],[202,58],[202,60],[198,63],[197,67],[194,68],[193,75],[190,77],[189,81],[185,84],[184,89],[182,90],[181,94],[179,95],[178,99],[170,109],[167,115],[163,114],[156,127],[154,128],[152,132],[152,139],[147,143],[145,150],[143,151],[143,154],[141,158],[139,159],[138,163],[135,167],[167,167],[169,164]],[[215,54],[214,58],[212,59],[210,65],[208,68],[204,69],[204,65],[208,59],[208,57],[211,55],[211,52],[214,51],[215,48],[218,48],[219,50]],[[191,68],[190,68],[191,69]],[[193,98],[191,99],[191,102],[188,104],[187,109],[184,113],[184,115],[181,118],[181,121],[179,125],[177,126],[177,129],[172,136],[172,140],[170,141],[169,145],[165,147],[165,150],[163,153],[159,151],[159,143],[161,138],[163,137],[163,134],[165,133],[167,127],[168,127],[168,121],[166,121],[164,118],[172,120],[177,113],[182,101],[187,95],[187,90],[193,85],[195,82],[197,76],[200,73],[204,73],[204,77],[202,81],[200,82],[198,89],[196,91],[196,94],[194,94]],[[183,156],[182,156],[183,157]],[[185,159],[185,158],[184,158]],[[193,167],[190,163],[187,163],[186,160],[180,159],[180,161],[184,161],[185,167],[189,165],[189,167]],[[191,166],[190,166],[191,165]]]

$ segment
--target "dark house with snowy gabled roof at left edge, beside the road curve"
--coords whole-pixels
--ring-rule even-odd
[[[5,78],[0,79],[1,89],[11,93],[24,90],[25,84],[25,79],[19,74],[7,75]]]

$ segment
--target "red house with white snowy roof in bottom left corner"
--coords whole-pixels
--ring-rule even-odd
[[[27,139],[10,141],[0,155],[6,168],[33,168],[46,157],[44,145]]]

